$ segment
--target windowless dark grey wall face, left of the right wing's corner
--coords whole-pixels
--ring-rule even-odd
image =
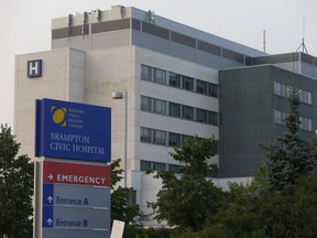
[[[219,72],[220,175],[252,176],[263,159],[260,143],[273,134],[270,68]]]

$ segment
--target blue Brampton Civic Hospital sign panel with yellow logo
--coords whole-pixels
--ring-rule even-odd
[[[35,125],[35,156],[110,161],[110,108],[36,100]]]

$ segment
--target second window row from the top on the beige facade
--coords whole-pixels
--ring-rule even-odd
[[[186,105],[141,96],[141,110],[218,126],[218,113]]]

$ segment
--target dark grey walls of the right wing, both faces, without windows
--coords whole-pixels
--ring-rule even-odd
[[[260,144],[276,142],[285,127],[274,122],[274,110],[287,112],[286,97],[274,94],[274,82],[311,93],[311,105],[300,102],[299,117],[313,120],[304,140],[316,138],[317,82],[276,66],[253,66],[219,72],[221,125],[220,175],[253,176],[265,159]]]

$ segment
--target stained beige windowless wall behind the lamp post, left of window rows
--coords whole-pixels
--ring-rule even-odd
[[[128,169],[134,170],[134,56],[129,46],[87,52],[86,102],[112,108],[111,158],[124,158],[125,100],[112,99],[114,91],[128,91]],[[123,165],[123,163],[122,163]]]

